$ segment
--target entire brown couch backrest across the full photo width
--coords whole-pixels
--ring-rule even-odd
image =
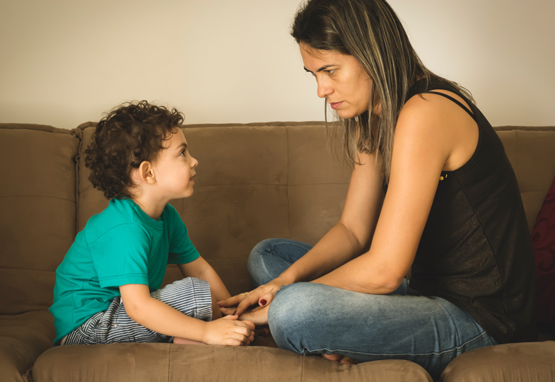
[[[70,132],[0,124],[0,313],[52,303],[57,265],[76,232],[107,205],[83,164],[94,126]],[[555,127],[497,130],[532,227],[555,176]],[[339,219],[349,169],[327,149],[322,122],[187,125],[184,131],[199,160],[197,183],[192,197],[172,203],[231,293],[250,288],[246,262],[258,241],[315,243]],[[177,277],[169,267],[165,282]]]

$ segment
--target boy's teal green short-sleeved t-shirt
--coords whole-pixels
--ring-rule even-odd
[[[132,199],[112,199],[89,219],[56,270],[54,316],[58,344],[95,313],[105,311],[125,284],[160,288],[168,264],[199,257],[175,208],[167,204],[158,220]]]

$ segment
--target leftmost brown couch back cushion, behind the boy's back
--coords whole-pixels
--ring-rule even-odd
[[[0,124],[0,314],[52,303],[54,271],[75,236],[78,139],[42,125]]]

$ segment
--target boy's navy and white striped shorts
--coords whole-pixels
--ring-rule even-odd
[[[210,285],[201,279],[186,277],[153,291],[154,299],[167,303],[181,313],[210,321],[212,297]],[[62,345],[95,345],[114,342],[172,342],[173,337],[154,332],[127,316],[122,298],[115,297],[107,311],[98,312],[62,340]]]

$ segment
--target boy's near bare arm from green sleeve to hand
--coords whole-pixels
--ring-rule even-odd
[[[119,291],[127,315],[139,325],[163,335],[209,345],[238,346],[252,340],[252,324],[237,320],[237,316],[205,322],[186,316],[168,304],[153,299],[148,286],[144,284],[122,285]]]

